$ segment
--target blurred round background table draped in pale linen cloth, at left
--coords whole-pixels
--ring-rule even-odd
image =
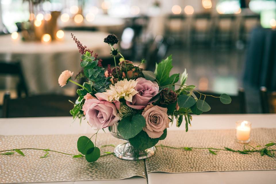
[[[73,95],[74,85],[60,88],[57,79],[62,71],[70,70],[77,74],[81,69],[76,43],[71,38],[71,32],[76,38],[98,58],[110,57],[110,47],[104,43],[106,32],[65,31],[61,41],[41,43],[40,41],[16,40],[11,35],[0,36],[0,60],[20,60],[23,74],[31,94],[65,93]],[[9,85],[9,81],[6,82]],[[3,85],[3,84],[1,84]],[[12,86],[6,86],[6,89]]]

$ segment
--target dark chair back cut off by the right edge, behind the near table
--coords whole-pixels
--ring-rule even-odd
[[[268,92],[266,87],[260,88],[262,113],[276,113],[276,91]]]

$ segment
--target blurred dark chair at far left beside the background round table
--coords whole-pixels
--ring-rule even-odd
[[[25,95],[28,96],[28,89],[26,86],[20,62],[0,61],[0,75],[17,76],[19,78],[19,82],[16,87],[17,96],[22,97],[22,92],[24,92]]]

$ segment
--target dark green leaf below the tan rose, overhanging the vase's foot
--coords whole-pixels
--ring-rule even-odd
[[[152,139],[150,138],[145,131],[141,131],[135,137],[130,138],[129,142],[133,147],[139,150],[145,150],[156,145],[159,141],[159,138]]]

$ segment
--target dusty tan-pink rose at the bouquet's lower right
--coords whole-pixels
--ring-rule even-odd
[[[142,115],[146,120],[146,126],[143,131],[151,138],[158,138],[163,134],[163,131],[169,127],[169,118],[167,114],[167,108],[148,105]]]

